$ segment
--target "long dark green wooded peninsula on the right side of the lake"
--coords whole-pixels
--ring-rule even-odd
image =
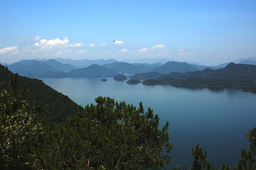
[[[169,83],[172,85],[225,86],[232,83],[252,83],[256,80],[256,66],[229,63],[225,68],[203,71],[177,73],[172,72],[147,83]]]

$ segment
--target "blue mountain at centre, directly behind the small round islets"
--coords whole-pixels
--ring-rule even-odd
[[[150,65],[145,65],[145,64],[133,65],[133,64],[124,63],[124,62],[104,64],[102,66],[107,67],[112,70],[115,70],[118,73],[122,73],[122,74],[124,74],[124,73],[127,73],[127,74],[142,73],[142,72],[147,72],[148,70],[152,69],[152,66],[150,66]]]

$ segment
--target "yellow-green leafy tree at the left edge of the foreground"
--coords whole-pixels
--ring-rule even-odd
[[[20,100],[15,80],[11,94],[4,89],[0,93],[0,169],[30,169],[30,146],[42,135],[35,114],[26,112],[26,102]]]

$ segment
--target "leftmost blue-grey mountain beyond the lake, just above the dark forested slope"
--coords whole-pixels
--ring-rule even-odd
[[[49,59],[47,61],[37,61],[37,60],[21,60],[17,63],[13,63],[8,65],[8,68],[13,73],[19,73],[22,76],[26,77],[37,77],[38,75],[51,71],[51,72],[58,72],[58,71],[70,71],[75,67],[62,64],[54,59]]]

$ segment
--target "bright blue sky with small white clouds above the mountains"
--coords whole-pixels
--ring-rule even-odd
[[[256,1],[0,1],[0,62],[256,57]]]

